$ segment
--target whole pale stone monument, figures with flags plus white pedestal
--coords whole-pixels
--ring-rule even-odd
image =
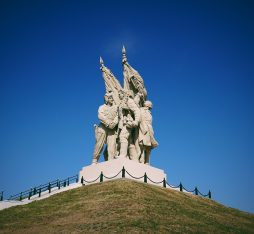
[[[143,78],[127,61],[124,46],[122,66],[123,87],[100,57],[104,104],[98,109],[100,124],[94,125],[96,143],[92,163],[80,171],[80,179],[94,181],[101,173],[114,177],[124,167],[127,178],[146,174],[153,181],[162,181],[166,179],[164,171],[150,166],[151,151],[158,146],[152,126],[153,105],[147,98]],[[99,163],[102,153],[104,162]]]

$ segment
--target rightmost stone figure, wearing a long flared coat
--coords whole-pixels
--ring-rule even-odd
[[[140,162],[149,164],[151,150],[158,146],[154,138],[152,127],[152,102],[145,101],[144,107],[140,108],[139,144],[141,148]]]

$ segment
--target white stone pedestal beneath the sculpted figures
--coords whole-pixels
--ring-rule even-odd
[[[161,169],[126,158],[118,158],[83,167],[79,173],[79,181],[83,177],[84,184],[98,183],[100,182],[101,172],[103,173],[103,181],[120,179],[123,178],[123,167],[126,170],[124,178],[144,182],[146,173],[147,183],[159,186],[162,186],[164,178],[167,179],[167,175]]]

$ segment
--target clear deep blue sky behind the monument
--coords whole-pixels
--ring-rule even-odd
[[[142,75],[171,184],[254,213],[253,1],[1,1],[0,190],[90,164],[99,56]]]

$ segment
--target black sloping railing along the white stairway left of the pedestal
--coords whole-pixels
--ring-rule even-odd
[[[71,183],[74,183],[74,182],[75,183],[78,182],[78,175],[68,177],[64,180],[53,180],[53,181],[50,181],[49,183],[41,184],[39,186],[33,187],[21,193],[12,195],[9,197],[8,200],[22,201],[23,199],[26,199],[26,198],[30,200],[32,196],[38,195],[39,197],[41,197],[41,194],[45,191],[48,191],[48,193],[51,193],[51,190],[53,188],[61,189],[61,187],[69,186]],[[2,193],[2,197],[3,197],[3,193]]]

